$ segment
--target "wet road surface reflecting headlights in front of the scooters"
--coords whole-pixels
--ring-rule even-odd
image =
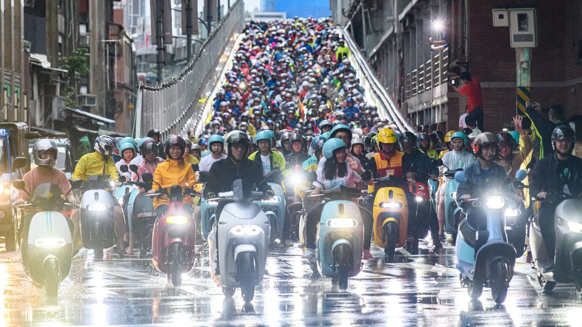
[[[426,244],[424,244],[426,245]],[[491,292],[470,302],[454,269],[454,248],[420,255],[400,253],[386,264],[373,248],[374,260],[339,292],[329,279],[314,279],[302,264],[299,248],[274,248],[268,276],[252,305],[237,292],[225,300],[207,268],[195,268],[173,288],[149,260],[126,257],[94,261],[81,250],[58,303],[29,282],[18,253],[0,253],[0,324],[2,325],[580,325],[582,300],[571,285],[541,294],[530,265],[518,263],[505,305],[495,307]],[[521,260],[523,262],[523,260]],[[203,262],[207,264],[207,261]]]

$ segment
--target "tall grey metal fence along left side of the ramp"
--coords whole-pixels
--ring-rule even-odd
[[[212,88],[243,27],[244,2],[237,0],[178,76],[158,85],[140,84],[135,137],[152,128],[162,138],[180,134],[203,119],[202,108],[212,101]]]

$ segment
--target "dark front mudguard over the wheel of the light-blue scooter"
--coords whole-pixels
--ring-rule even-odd
[[[476,282],[486,282],[489,278],[489,267],[495,260],[505,260],[509,264],[510,278],[513,276],[513,267],[515,265],[515,248],[506,242],[494,241],[481,247],[475,257],[475,275],[473,280]]]

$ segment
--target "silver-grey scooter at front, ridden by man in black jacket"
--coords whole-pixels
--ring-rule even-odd
[[[208,180],[207,172],[200,173]],[[242,180],[233,182],[233,190],[219,193],[212,200],[228,201],[224,205],[219,223],[214,223],[208,236],[210,272],[217,285],[222,286],[226,297],[233,296],[240,287],[243,300],[253,300],[255,286],[262,281],[271,227],[269,218],[255,202],[267,198],[262,192],[243,194]],[[217,251],[218,250],[218,251]],[[217,260],[221,275],[215,275]]]

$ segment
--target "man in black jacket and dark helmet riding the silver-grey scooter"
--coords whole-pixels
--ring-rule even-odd
[[[221,159],[212,164],[210,168],[211,178],[207,180],[206,186],[204,187],[204,198],[215,198],[221,192],[232,191],[232,184],[237,179],[242,179],[244,193],[250,193],[253,187],[256,186],[266,196],[274,196],[275,193],[267,183],[262,181],[260,164],[245,158],[247,151],[249,151],[249,142],[249,137],[240,130],[233,130],[226,135],[226,153],[228,154],[228,158]],[[219,201],[215,211],[215,223],[218,223],[222,208],[227,203],[228,201]],[[218,261],[215,275],[220,275]]]

